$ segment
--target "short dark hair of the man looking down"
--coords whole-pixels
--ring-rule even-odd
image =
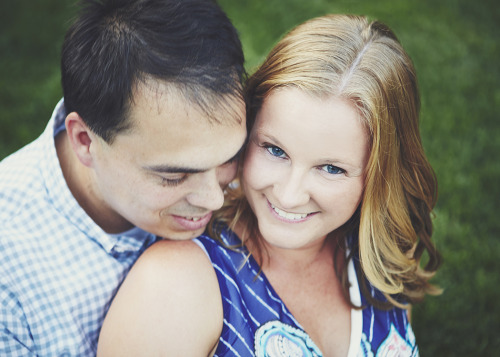
[[[173,84],[215,120],[215,103],[242,97],[241,42],[215,1],[86,0],[81,6],[62,48],[64,104],[104,140],[130,127],[139,83]]]

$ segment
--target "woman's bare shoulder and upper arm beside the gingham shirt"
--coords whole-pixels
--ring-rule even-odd
[[[125,279],[106,316],[98,356],[208,356],[223,324],[215,271],[193,242],[161,241]]]

